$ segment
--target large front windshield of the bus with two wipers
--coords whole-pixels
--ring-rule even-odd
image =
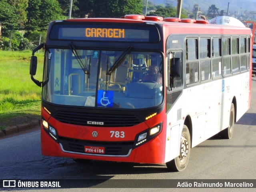
[[[141,109],[163,101],[158,52],[48,49],[45,57],[44,81],[49,81],[42,98],[47,102]]]

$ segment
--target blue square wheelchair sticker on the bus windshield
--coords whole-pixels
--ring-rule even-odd
[[[113,106],[114,91],[98,90],[98,107],[112,107]]]

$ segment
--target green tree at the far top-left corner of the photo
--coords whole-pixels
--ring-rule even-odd
[[[3,36],[10,36],[10,32],[18,29],[17,15],[14,6],[8,4],[7,0],[0,1],[0,22]]]

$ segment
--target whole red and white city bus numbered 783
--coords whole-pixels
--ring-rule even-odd
[[[193,19],[51,22],[30,64],[42,86],[42,154],[184,170],[192,147],[231,138],[248,110],[251,39],[249,28]]]

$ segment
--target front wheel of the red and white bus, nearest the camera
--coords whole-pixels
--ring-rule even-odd
[[[180,154],[178,157],[166,163],[166,166],[171,171],[183,171],[188,165],[190,156],[191,140],[188,127],[183,126],[180,138]]]

